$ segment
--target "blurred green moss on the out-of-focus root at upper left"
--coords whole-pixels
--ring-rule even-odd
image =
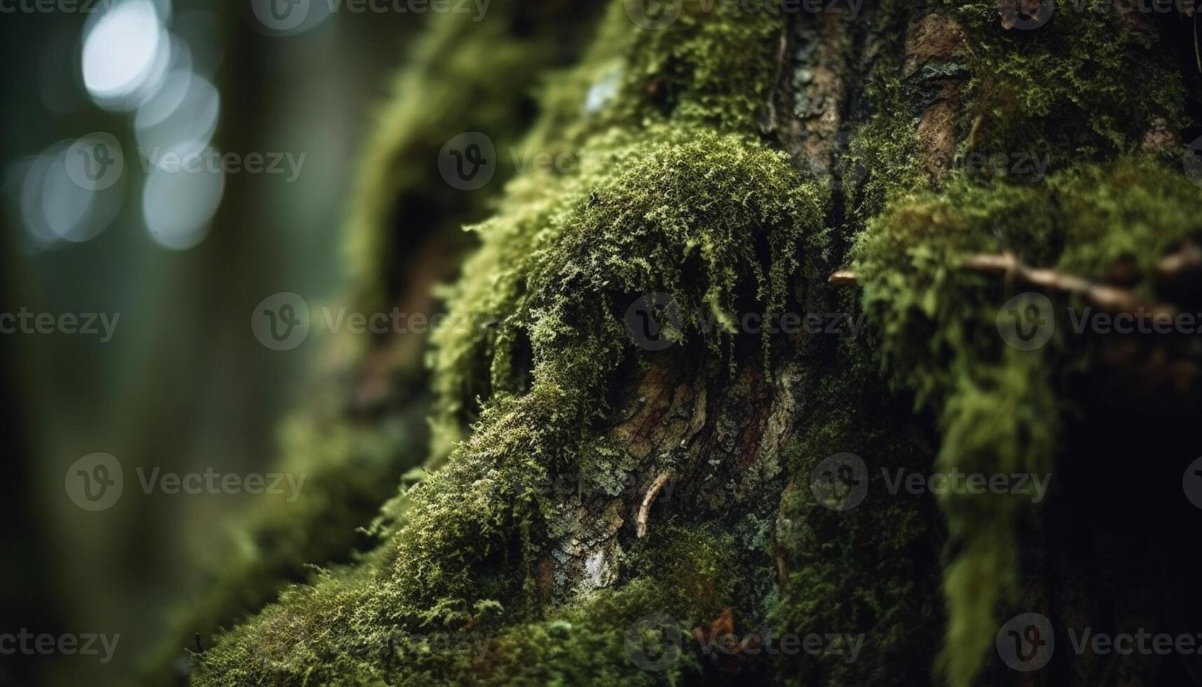
[[[565,36],[585,32],[599,6],[493,0],[486,20],[432,14],[363,146],[344,250],[358,307],[387,307],[416,245],[486,214],[514,172],[513,158],[502,152],[531,123],[540,84],[530,75],[571,59],[573,43]],[[448,140],[468,131],[489,136],[498,159],[490,186],[462,191],[439,176],[435,162]]]

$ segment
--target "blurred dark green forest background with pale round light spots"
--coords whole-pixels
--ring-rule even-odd
[[[120,635],[107,664],[0,655],[0,685],[127,683],[254,498],[143,493],[135,469],[264,470],[304,390],[321,347],[270,350],[251,313],[338,291],[363,138],[428,20],[329,8],[0,0],[0,313],[30,318],[0,321],[0,636]],[[38,333],[42,313],[97,333]],[[65,479],[95,452],[125,496],[90,511]]]

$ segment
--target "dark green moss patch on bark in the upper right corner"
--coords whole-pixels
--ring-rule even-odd
[[[1158,122],[1184,125],[1184,88],[1172,69],[1179,55],[1146,13],[1111,0],[1057,4],[1046,25],[1005,30],[993,0],[935,6],[971,45],[970,105],[959,123],[970,150],[1035,152],[1063,170],[1138,150]]]

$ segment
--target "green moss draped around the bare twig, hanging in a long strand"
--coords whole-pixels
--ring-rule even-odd
[[[1202,230],[1198,218],[1202,201],[1179,173],[1121,159],[1077,166],[1039,186],[958,178],[942,194],[899,197],[874,219],[855,251],[864,308],[880,325],[881,355],[894,379],[935,411],[939,469],[1053,474],[1061,417],[1075,404],[1057,390],[1088,367],[1077,357],[1088,353],[1088,340],[1075,340],[1063,318],[1045,348],[1004,343],[999,308],[1031,289],[966,270],[964,256],[1010,250],[1028,263],[1091,280],[1130,261],[1141,268],[1131,288],[1152,295],[1149,267]],[[992,646],[1000,609],[1013,602],[1016,528],[1035,508],[1030,497],[992,493],[948,493],[941,507],[954,552],[944,584],[944,656],[952,685],[969,685]]]

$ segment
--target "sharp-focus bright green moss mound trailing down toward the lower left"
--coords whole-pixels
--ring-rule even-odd
[[[531,612],[520,603],[528,579],[513,570],[546,547],[554,504],[523,487],[601,450],[606,390],[637,351],[621,324],[630,301],[674,294],[688,314],[682,336],[715,349],[728,334],[703,332],[695,310],[730,312],[740,297],[780,308],[803,236],[822,218],[815,185],[783,153],[684,126],[602,135],[589,149],[602,160],[599,172],[514,182],[501,213],[476,227],[483,247],[450,294],[451,313],[499,322],[487,337],[440,332],[435,374],[448,398],[462,398],[488,369],[490,393],[468,440],[406,496],[411,507],[379,567],[290,593],[204,663],[237,665],[269,641],[264,634],[279,642],[272,618],[303,617],[323,633],[374,640],[482,623],[478,609],[494,600],[508,617]],[[369,657],[310,651],[287,650],[256,679],[380,669]],[[355,670],[344,670],[349,663]],[[405,667],[395,670],[403,676]]]

